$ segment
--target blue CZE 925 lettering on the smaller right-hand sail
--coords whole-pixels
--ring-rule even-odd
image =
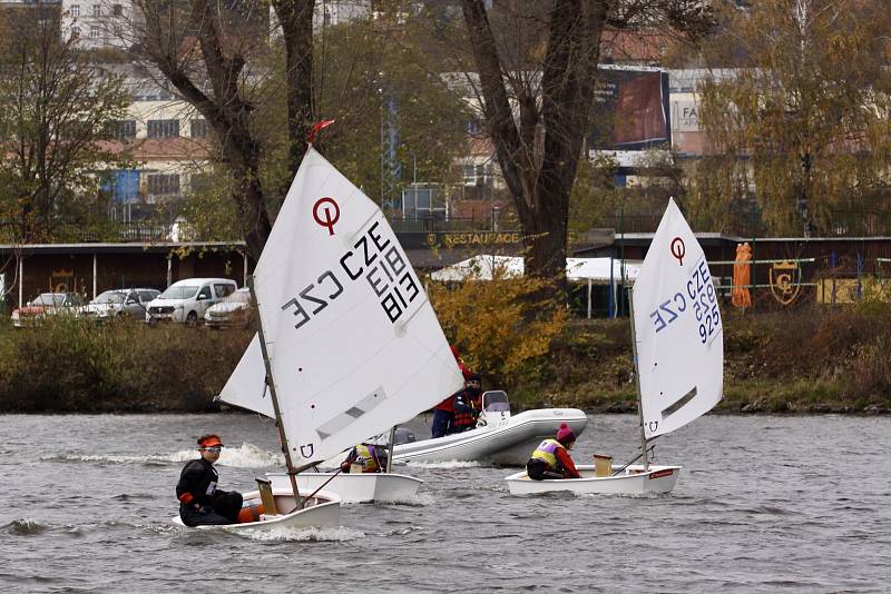
[[[703,258],[694,267],[693,274],[687,279],[686,290],[675,293],[672,298],[664,300],[649,314],[656,333],[660,333],[677,320],[688,309],[696,316],[699,340],[705,344],[721,325],[721,311],[717,308],[715,286],[708,265]]]

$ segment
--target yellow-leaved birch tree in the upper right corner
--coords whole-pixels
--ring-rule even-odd
[[[767,232],[804,236],[834,228],[851,204],[887,209],[887,3],[762,0],[718,18],[704,51],[714,76],[699,89],[709,155],[692,208],[721,228],[748,204]]]

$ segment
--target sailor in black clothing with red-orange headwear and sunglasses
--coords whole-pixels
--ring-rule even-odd
[[[186,526],[235,524],[242,509],[242,494],[216,488],[219,476],[214,463],[219,459],[223,442],[216,434],[198,437],[202,457],[190,461],[179,474],[176,497],[179,517]]]

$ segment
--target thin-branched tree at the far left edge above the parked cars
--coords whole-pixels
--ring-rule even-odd
[[[7,235],[17,242],[69,239],[66,226],[107,216],[97,170],[126,160],[110,141],[130,97],[120,77],[91,61],[76,39],[62,39],[57,11],[4,7],[0,19]]]

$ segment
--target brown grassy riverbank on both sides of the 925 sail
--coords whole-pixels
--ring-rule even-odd
[[[891,413],[887,305],[724,316],[724,399],[715,412]],[[575,321],[554,345],[549,369],[552,387],[520,388],[525,406],[637,409],[627,319]]]

